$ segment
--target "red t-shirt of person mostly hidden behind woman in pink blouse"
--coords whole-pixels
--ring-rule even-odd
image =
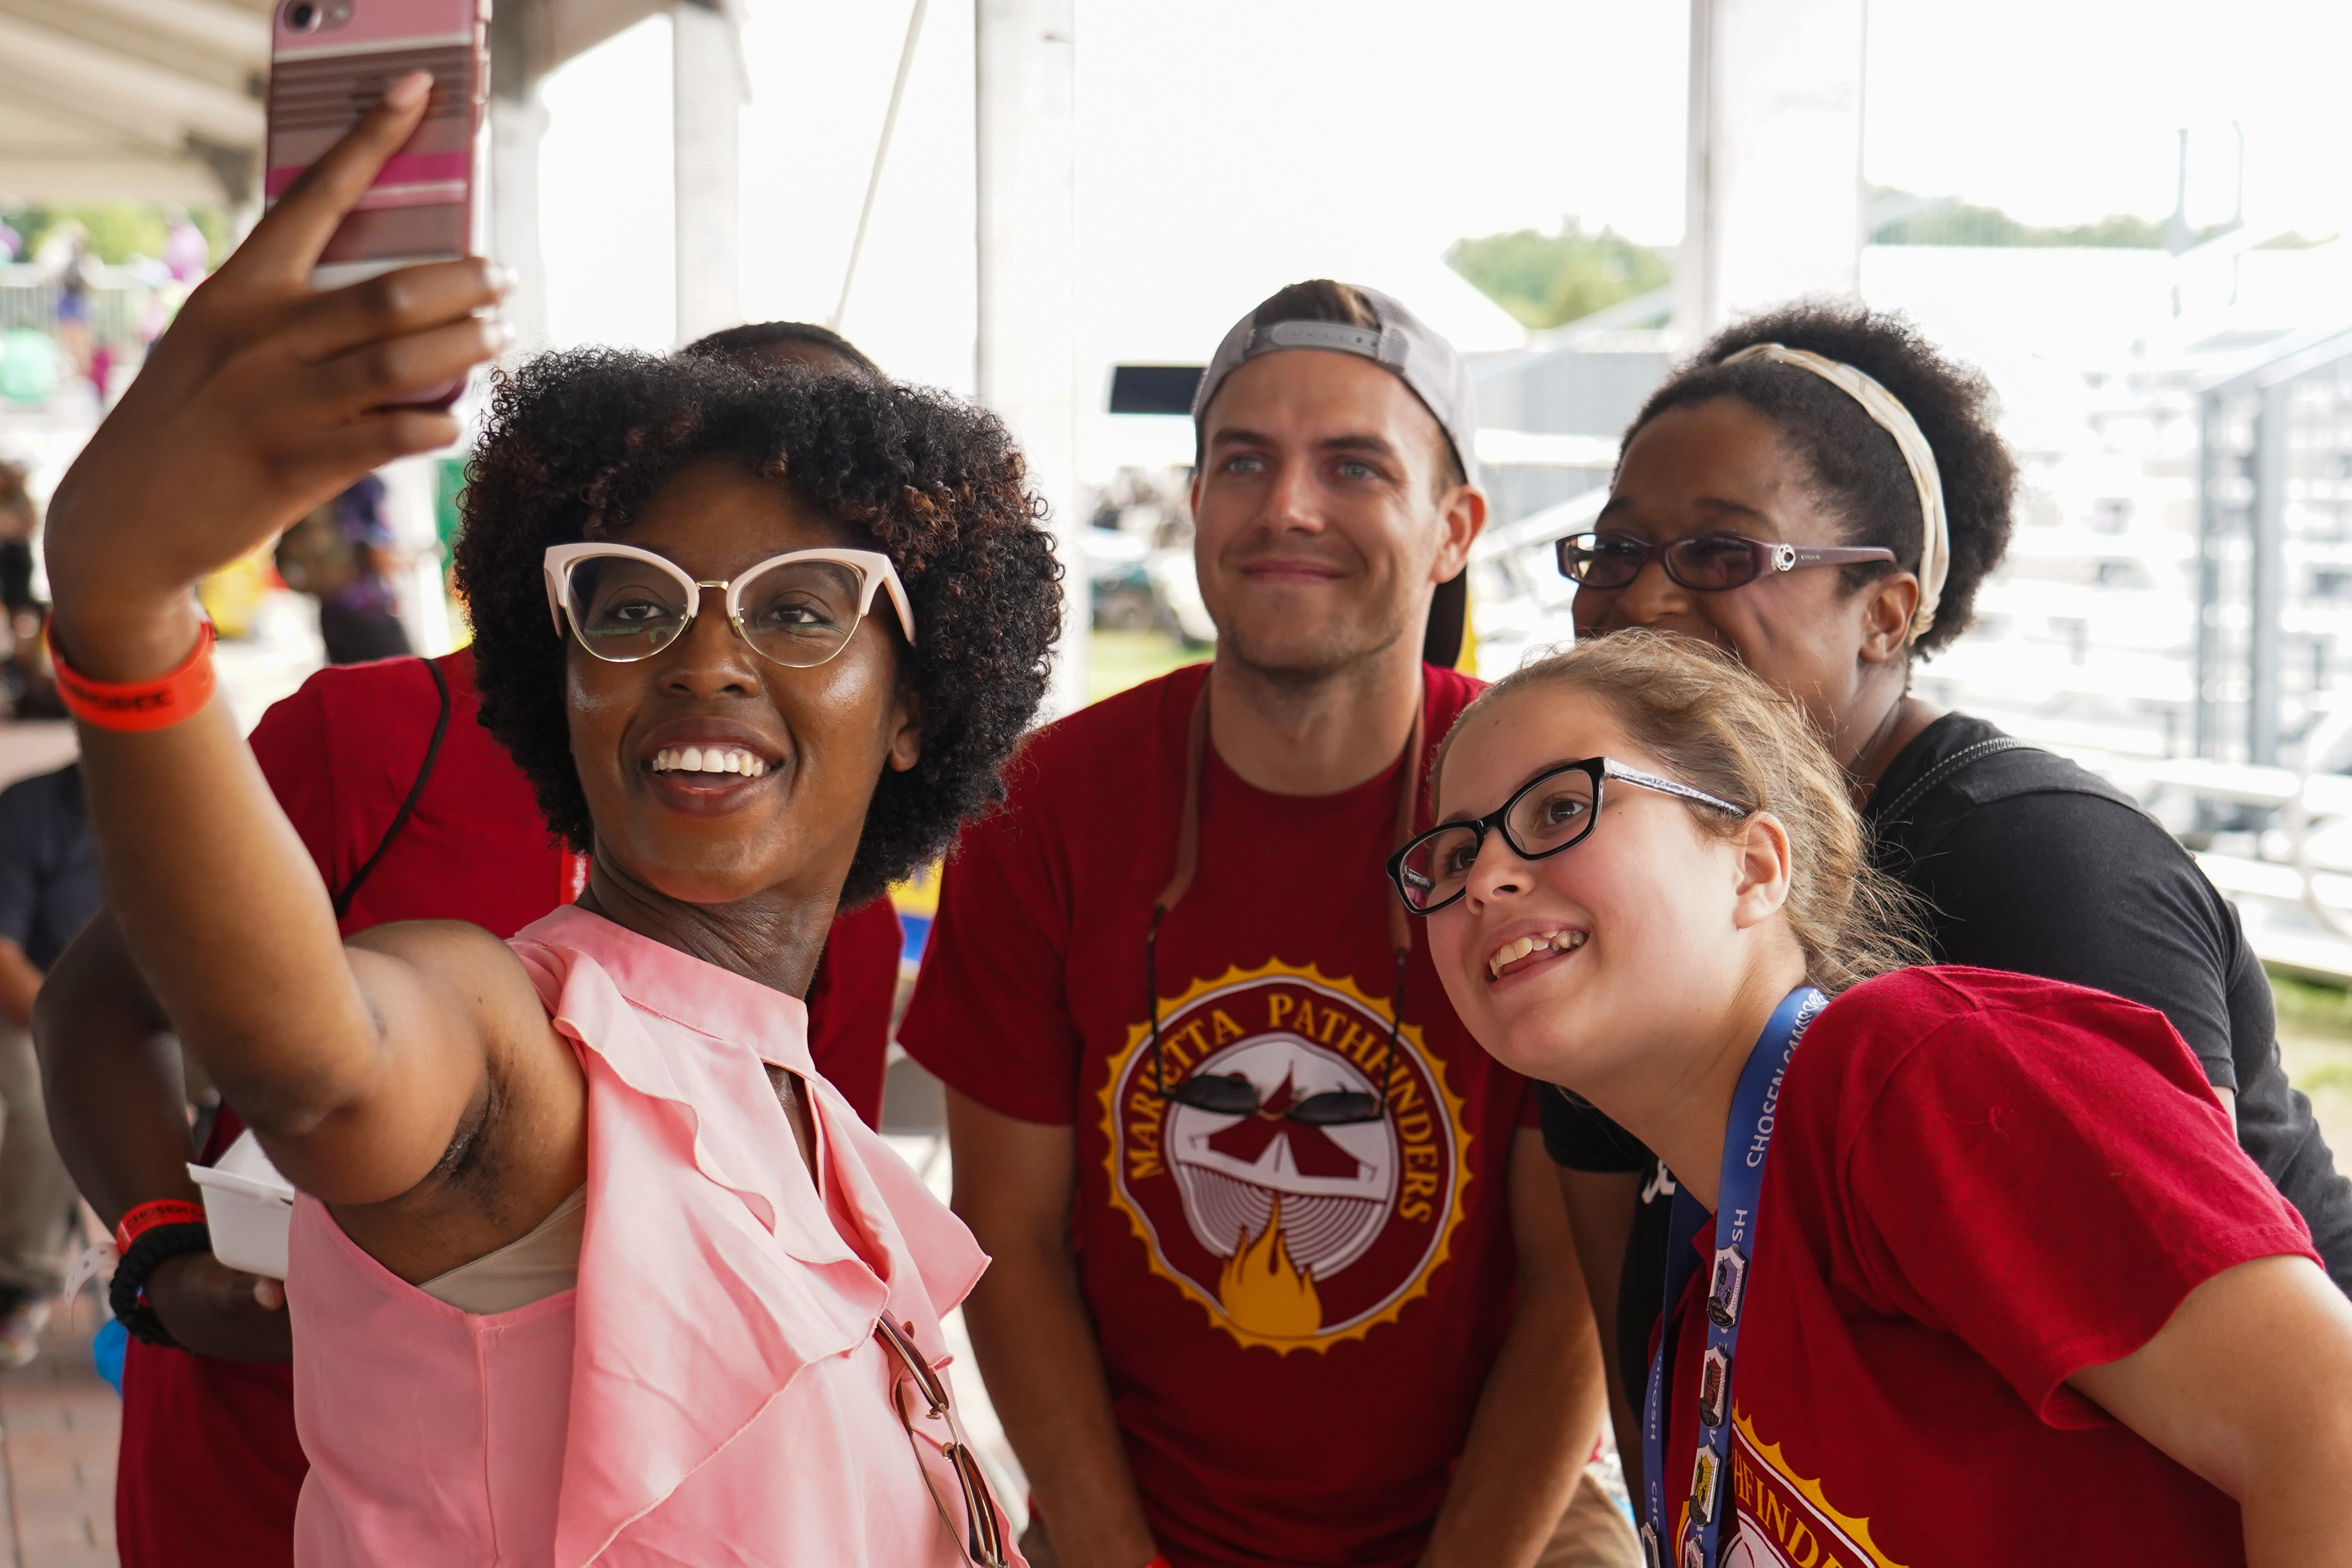
[[[449,729],[416,811],[353,898],[346,936],[395,919],[463,919],[513,936],[579,893],[583,863],[548,837],[522,769],[477,722],[473,654],[437,663]],[[416,658],[320,670],[261,715],[254,757],[329,889],[348,886],[376,853],[437,717],[440,691]],[[868,1124],[882,1114],[896,983],[889,900],[835,919],[809,987],[809,1053]],[[214,1143],[226,1147],[235,1128],[223,1107]],[[306,1472],[289,1366],[129,1342],[115,1472],[125,1568],[292,1563]]]

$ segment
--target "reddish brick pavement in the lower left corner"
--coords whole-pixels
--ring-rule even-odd
[[[0,1373],[5,1568],[115,1568],[115,1439],[122,1403],[89,1366],[99,1298],[59,1312],[40,1359]]]

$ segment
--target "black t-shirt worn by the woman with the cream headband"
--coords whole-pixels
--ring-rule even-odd
[[[2173,835],[2096,773],[1959,712],[1896,755],[1863,820],[1879,870],[1922,893],[1938,961],[2091,985],[2171,1018],[2206,1077],[2237,1091],[2239,1145],[2303,1213],[2352,1295],[2352,1182],[2336,1173],[2312,1103],[2286,1081],[2270,980],[2237,907]],[[1672,1178],[1559,1091],[1543,1095],[1543,1140],[1571,1171],[1649,1173],[1618,1286],[1618,1359],[1637,1392]]]

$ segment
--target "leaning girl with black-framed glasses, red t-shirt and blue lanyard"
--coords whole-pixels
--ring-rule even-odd
[[[1625,632],[1479,696],[1390,863],[1479,1044],[1677,1180],[1649,1561],[2352,1563],[2303,1220],[2161,1013],[1900,969],[1846,788],[1731,658]]]

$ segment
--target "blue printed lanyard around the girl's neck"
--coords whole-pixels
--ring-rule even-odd
[[[1731,1354],[1740,1342],[1740,1302],[1748,1298],[1748,1262],[1757,1255],[1757,1194],[1764,1190],[1764,1154],[1771,1150],[1780,1077],[1797,1056],[1804,1030],[1830,1004],[1811,985],[1799,985],[1748,1051],[1731,1124],[1724,1128],[1724,1180],[1715,1194],[1715,1279],[1708,1288],[1708,1359],[1698,1375],[1698,1448],[1691,1455],[1691,1519],[1668,1554],[1665,1530],[1665,1394],[1668,1356],[1675,1347],[1675,1307],[1698,1267],[1691,1241],[1708,1211],[1682,1190],[1665,1232],[1665,1307],[1658,1314],[1658,1349],[1649,1359],[1649,1394],[1642,1399],[1642,1493],[1646,1523],[1642,1554],[1649,1568],[1715,1568],[1715,1542],[1724,1528],[1724,1472],[1731,1467]]]

